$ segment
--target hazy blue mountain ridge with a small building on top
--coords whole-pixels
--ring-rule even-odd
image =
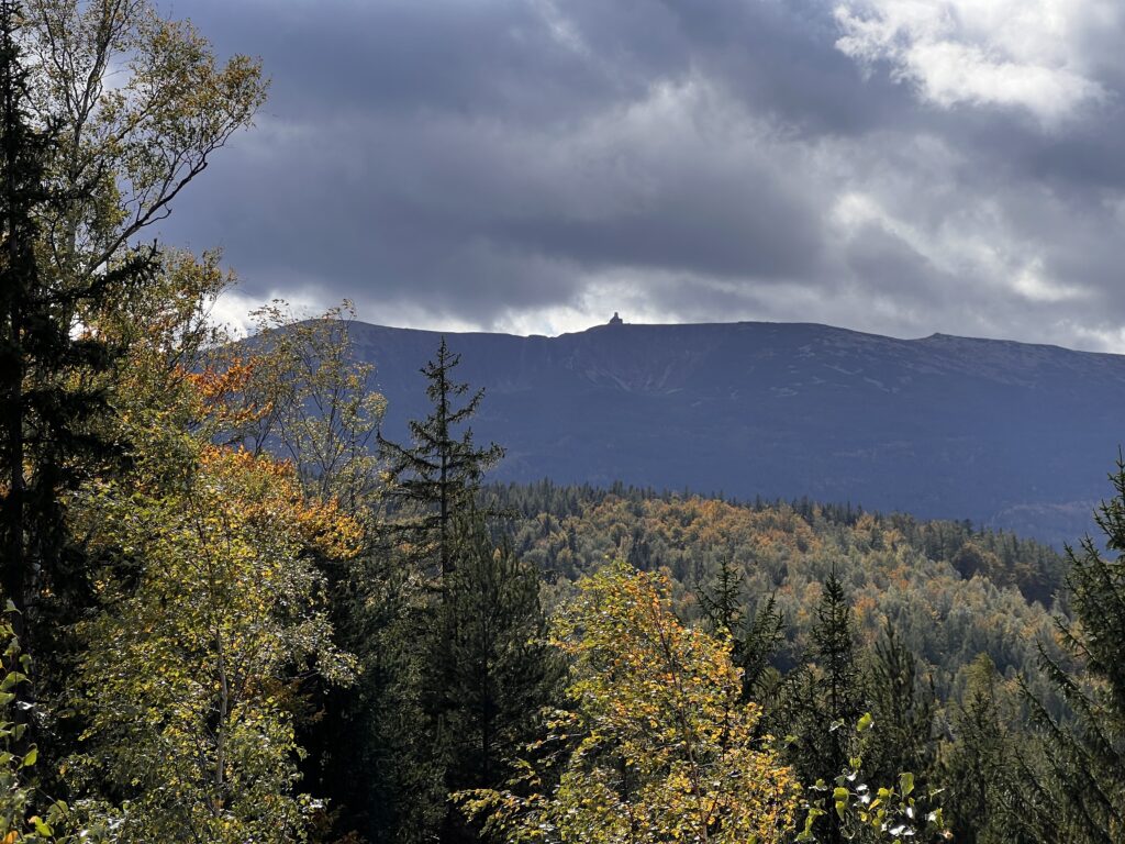
[[[386,431],[426,412],[436,332],[357,323]],[[447,333],[486,389],[492,477],[809,496],[1074,541],[1125,440],[1125,357],[814,324]]]

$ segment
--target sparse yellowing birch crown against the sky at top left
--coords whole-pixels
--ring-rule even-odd
[[[266,95],[261,65],[219,64],[190,23],[150,0],[25,0],[36,120],[58,132],[60,203],[44,254],[63,285],[90,284],[198,177]]]

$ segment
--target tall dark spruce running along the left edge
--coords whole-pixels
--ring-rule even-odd
[[[65,493],[110,452],[97,421],[107,410],[99,375],[114,354],[82,314],[146,278],[154,252],[111,255],[82,280],[40,263],[42,221],[74,197],[51,183],[56,133],[32,118],[21,21],[19,3],[0,0],[0,554],[25,652],[55,656],[60,631],[90,600],[84,554],[66,533]]]

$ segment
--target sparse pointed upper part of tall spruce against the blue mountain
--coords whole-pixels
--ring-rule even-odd
[[[406,511],[402,513],[405,519],[394,527],[416,542],[416,556],[436,557],[441,577],[453,567],[454,517],[472,502],[484,473],[504,456],[496,443],[477,448],[471,428],[459,438],[454,432],[477,412],[484,398],[484,389],[478,389],[460,407],[454,406],[469,392],[468,384],[452,378],[460,361],[461,356],[450,352],[442,336],[438,356],[422,368],[430,381],[426,396],[433,412],[424,420],[411,421],[413,445],[400,446],[379,436],[389,481],[387,494]]]

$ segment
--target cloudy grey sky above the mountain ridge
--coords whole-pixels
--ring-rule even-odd
[[[270,98],[163,236],[448,331],[1125,352],[1119,0],[178,0]]]

